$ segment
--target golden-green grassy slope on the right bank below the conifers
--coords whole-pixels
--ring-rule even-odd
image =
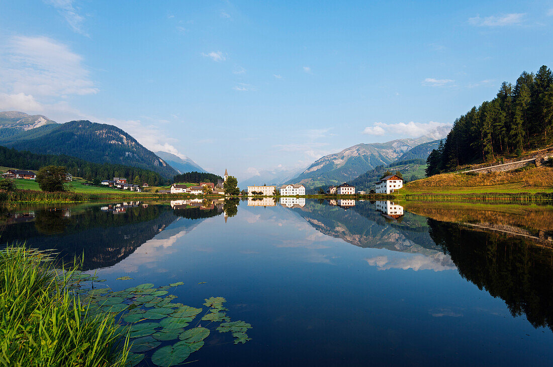
[[[442,173],[406,183],[399,195],[553,192],[553,167],[483,174]]]

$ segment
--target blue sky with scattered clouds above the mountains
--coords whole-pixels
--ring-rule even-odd
[[[417,137],[552,66],[553,2],[0,2],[0,110],[239,179]]]

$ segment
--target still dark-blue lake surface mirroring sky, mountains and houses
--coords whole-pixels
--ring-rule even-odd
[[[522,365],[553,357],[552,218],[302,199],[16,206],[0,238],[84,254],[114,290],[184,281],[178,302],[225,297],[252,341],[212,331],[196,365]]]

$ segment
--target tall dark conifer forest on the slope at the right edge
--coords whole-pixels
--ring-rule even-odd
[[[426,175],[488,162],[551,142],[553,73],[547,66],[523,72],[514,84],[503,82],[491,101],[473,107],[453,123],[445,141],[427,158]]]

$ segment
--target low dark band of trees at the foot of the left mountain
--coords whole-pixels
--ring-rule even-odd
[[[169,183],[169,180],[158,173],[144,168],[125,166],[114,163],[92,163],[84,159],[65,155],[46,155],[17,151],[14,148],[0,146],[0,162],[4,167],[38,170],[44,166],[64,166],[68,173],[86,180],[104,180],[113,177],[127,178],[127,182],[150,186],[159,186]]]

